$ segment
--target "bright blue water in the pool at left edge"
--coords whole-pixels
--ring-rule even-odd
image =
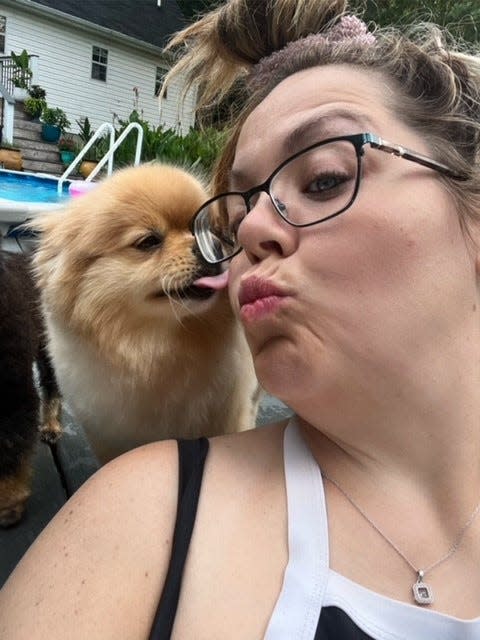
[[[1,200],[34,203],[61,202],[69,197],[69,184],[68,180],[63,183],[63,192],[59,196],[55,178],[45,178],[31,173],[0,169]]]

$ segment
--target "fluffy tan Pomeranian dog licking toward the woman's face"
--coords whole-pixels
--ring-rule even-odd
[[[189,229],[207,198],[189,172],[148,163],[33,223],[62,397],[102,464],[146,442],[255,425],[227,274],[202,260]]]

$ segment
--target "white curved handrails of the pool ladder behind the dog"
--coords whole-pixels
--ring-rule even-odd
[[[87,144],[82,148],[78,156],[68,165],[65,171],[62,173],[60,178],[58,179],[57,184],[57,193],[60,195],[63,192],[63,183],[68,178],[68,176],[72,173],[72,171],[77,167],[77,165],[83,160],[87,151],[95,144],[95,142],[104,135],[106,131],[109,134],[109,147],[107,153],[103,156],[103,158],[98,162],[95,169],[85,178],[86,182],[91,182],[93,178],[97,175],[97,173],[108,163],[107,166],[107,174],[111,175],[113,171],[113,156],[118,147],[122,144],[125,138],[129,135],[131,131],[137,131],[137,145],[135,147],[135,158],[133,161],[133,165],[137,166],[140,164],[140,156],[142,155],[142,144],[143,144],[143,129],[138,122],[130,122],[130,124],[126,127],[126,129],[118,136],[115,140],[115,129],[110,122],[104,122],[101,124],[98,129],[95,131],[93,136],[87,142]]]

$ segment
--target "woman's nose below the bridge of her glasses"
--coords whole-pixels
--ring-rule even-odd
[[[285,257],[295,250],[298,229],[276,211],[270,196],[260,193],[238,228],[238,240],[251,262],[277,254]]]

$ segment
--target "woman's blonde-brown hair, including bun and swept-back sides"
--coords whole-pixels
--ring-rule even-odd
[[[380,74],[394,89],[385,92],[386,105],[423,136],[434,157],[465,176],[446,183],[461,212],[479,219],[480,59],[431,24],[366,37],[340,27],[343,35],[331,37],[352,20],[346,15],[347,0],[229,0],[171,41],[169,48],[182,51],[167,81],[182,74],[187,86],[197,83],[200,109],[235,88],[240,108],[215,190],[225,188],[242,123],[276,85],[304,69],[347,64]]]

